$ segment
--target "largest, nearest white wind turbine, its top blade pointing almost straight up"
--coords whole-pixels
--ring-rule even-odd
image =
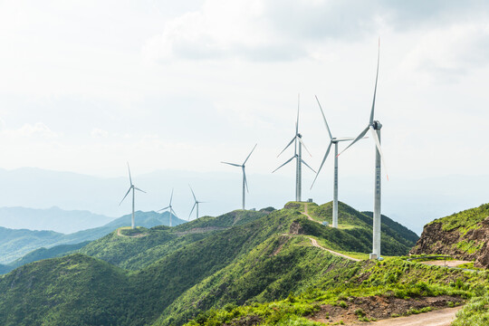
[[[375,77],[375,88],[374,96],[372,101],[372,109],[370,110],[370,119],[367,128],[360,132],[360,135],[354,139],[351,144],[341,151],[344,152],[347,149],[359,141],[365,134],[370,130],[372,138],[375,140],[376,152],[375,152],[375,185],[374,185],[374,214],[373,214],[373,238],[372,238],[372,254],[370,254],[370,259],[378,259],[380,257],[380,225],[381,225],[381,215],[380,215],[380,198],[381,198],[381,165],[380,160],[384,168],[386,168],[386,162],[384,161],[384,155],[382,154],[382,149],[380,147],[380,129],[382,124],[378,120],[374,120],[374,109],[375,109],[375,97],[377,95],[377,82],[379,80],[379,61],[380,61],[380,40],[379,40],[379,53],[377,54],[377,74]],[[340,154],[341,154],[340,153]],[[340,155],[338,154],[338,155]],[[386,168],[387,175],[387,168]],[[388,176],[387,176],[388,179]]]

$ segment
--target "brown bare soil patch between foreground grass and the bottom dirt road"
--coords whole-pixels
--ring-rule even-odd
[[[448,302],[461,304],[461,298],[442,295],[437,297],[419,297],[408,300],[396,297],[371,296],[364,298],[349,298],[344,301],[346,306],[326,304],[321,306],[319,312],[315,312],[310,319],[323,323],[343,321],[347,325],[357,324],[359,317],[369,320],[385,320],[393,316],[402,316],[412,310],[421,310],[431,307],[433,310],[448,307]]]

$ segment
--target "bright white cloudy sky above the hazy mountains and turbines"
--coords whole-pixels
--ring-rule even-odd
[[[220,161],[258,143],[248,174],[270,174],[292,156],[277,158],[300,93],[317,169],[328,134],[314,95],[333,136],[360,133],[380,42],[375,115],[391,187],[476,180],[489,165],[488,18],[484,1],[0,0],[0,168],[224,173]],[[342,154],[340,175],[373,179],[373,146]],[[331,187],[331,165],[318,187]],[[294,168],[275,173],[292,193]]]

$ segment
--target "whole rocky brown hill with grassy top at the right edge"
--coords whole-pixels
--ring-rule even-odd
[[[438,218],[425,225],[411,254],[449,254],[489,267],[489,204]]]

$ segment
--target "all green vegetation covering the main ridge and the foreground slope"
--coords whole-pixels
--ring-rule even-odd
[[[329,206],[309,204],[308,211],[319,221],[328,218]],[[84,245],[79,254],[26,264],[0,276],[0,320],[8,326],[319,325],[310,320],[313,312],[322,305],[353,309],[352,298],[446,294],[462,301],[487,290],[486,273],[399,257],[353,262],[330,254],[311,239],[365,257],[371,217],[341,203],[346,227],[332,229],[302,215],[303,203],[286,207],[236,210],[171,228],[122,229]],[[386,221],[383,250],[407,254],[416,240]],[[374,320],[365,311],[355,313]]]

